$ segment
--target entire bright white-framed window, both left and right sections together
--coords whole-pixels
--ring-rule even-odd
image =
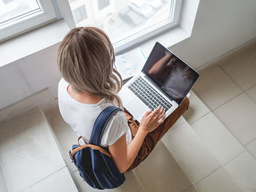
[[[181,3],[182,0],[0,0],[0,42],[63,17],[70,28],[102,28],[116,52],[120,52],[176,26]]]

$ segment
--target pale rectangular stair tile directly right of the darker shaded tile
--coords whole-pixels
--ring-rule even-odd
[[[192,184],[221,166],[188,123],[167,132],[162,141]]]

